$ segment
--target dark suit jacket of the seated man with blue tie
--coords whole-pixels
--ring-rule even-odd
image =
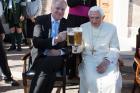
[[[35,59],[35,62],[37,62],[37,59],[44,57],[44,51],[45,49],[61,49],[65,54],[68,54],[67,51],[67,43],[66,41],[63,41],[61,43],[58,43],[55,46],[52,46],[52,38],[50,37],[50,29],[51,29],[51,14],[48,15],[42,15],[36,18],[36,25],[40,25],[41,27],[41,33],[39,37],[33,37],[33,45],[35,48],[38,49],[38,56]],[[59,25],[59,32],[66,30],[67,28],[67,22],[65,18],[62,18],[60,20]],[[59,58],[58,58],[59,57]],[[66,57],[66,55],[54,57],[58,58],[57,61],[60,61],[59,59]],[[54,61],[52,59],[52,61]],[[51,61],[51,60],[50,60]],[[61,60],[62,61],[62,60]],[[34,62],[34,63],[35,63]]]

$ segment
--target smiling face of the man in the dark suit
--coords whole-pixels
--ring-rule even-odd
[[[53,18],[55,20],[60,20],[64,16],[65,9],[65,3],[56,2],[56,4],[51,8]]]

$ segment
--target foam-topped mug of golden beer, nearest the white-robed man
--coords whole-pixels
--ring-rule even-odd
[[[80,46],[82,44],[82,28],[76,27],[74,30],[74,46]]]

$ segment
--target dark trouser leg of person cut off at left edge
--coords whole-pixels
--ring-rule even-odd
[[[8,66],[7,56],[6,52],[3,47],[3,42],[0,40],[0,67],[2,70],[2,73],[6,76],[6,78],[11,78],[11,71]]]

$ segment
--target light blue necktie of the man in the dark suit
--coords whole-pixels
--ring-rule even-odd
[[[58,34],[58,27],[59,27],[58,21],[53,21],[52,22],[51,37],[56,37],[57,36],[57,34]]]

